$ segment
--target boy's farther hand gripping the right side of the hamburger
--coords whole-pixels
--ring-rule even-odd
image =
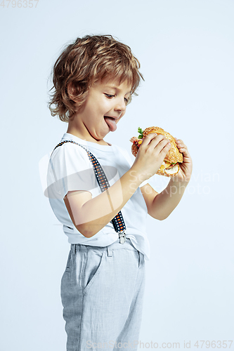
[[[175,177],[171,177],[171,180],[174,182],[188,183],[193,170],[193,161],[188,153],[187,146],[183,143],[183,140],[174,139],[176,140],[176,146],[178,147],[179,152],[183,154],[183,163],[179,164],[180,170]]]

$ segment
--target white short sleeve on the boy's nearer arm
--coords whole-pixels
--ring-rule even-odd
[[[47,194],[53,199],[63,199],[68,191],[84,190],[99,194],[93,166],[79,145],[65,143],[54,150],[48,163]]]

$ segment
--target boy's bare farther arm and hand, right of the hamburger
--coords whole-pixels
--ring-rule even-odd
[[[148,213],[155,219],[164,220],[176,208],[191,178],[193,162],[183,140],[176,140],[178,150],[183,153],[183,163],[180,164],[178,175],[172,177],[166,189],[157,193],[149,184],[141,187]]]

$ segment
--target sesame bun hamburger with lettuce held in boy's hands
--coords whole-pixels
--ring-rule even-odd
[[[176,176],[176,174],[180,170],[179,163],[183,162],[183,154],[181,154],[181,152],[178,151],[178,147],[176,146],[176,141],[174,140],[173,136],[160,127],[149,127],[146,128],[144,131],[141,128],[138,128],[138,133],[138,138],[134,136],[130,139],[131,143],[133,143],[131,145],[131,153],[135,157],[138,153],[139,148],[141,147],[143,139],[146,137],[146,135],[150,133],[157,133],[157,135],[165,135],[165,137],[170,140],[171,148],[167,153],[166,157],[164,158],[162,166],[160,166],[160,169],[156,172],[156,174],[166,177]]]

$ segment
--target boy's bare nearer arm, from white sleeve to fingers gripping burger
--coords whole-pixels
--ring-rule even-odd
[[[169,148],[169,140],[164,135],[150,133],[143,140],[129,171],[108,190],[93,199],[88,191],[67,192],[65,206],[77,230],[84,237],[93,237],[110,223],[141,183],[157,172]]]

